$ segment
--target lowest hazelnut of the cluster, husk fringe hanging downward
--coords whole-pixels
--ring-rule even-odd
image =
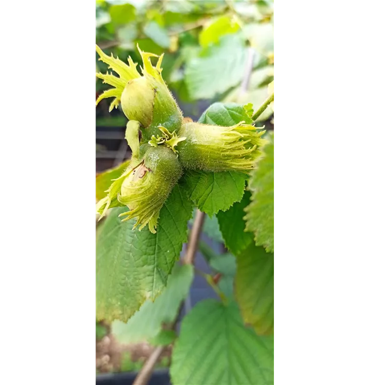
[[[175,153],[164,146],[146,147],[142,161],[122,178],[118,201],[130,211],[122,213],[123,221],[136,218],[133,228],[146,224],[156,233],[160,209],[182,174]]]

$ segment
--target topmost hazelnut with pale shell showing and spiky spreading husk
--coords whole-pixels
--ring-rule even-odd
[[[153,53],[138,51],[142,57],[143,68],[142,76],[138,73],[131,57],[128,57],[128,64],[123,63],[118,58],[107,56],[98,46],[96,51],[100,55],[101,61],[109,64],[118,73],[119,78],[112,74],[97,73],[96,76],[115,88],[103,92],[96,105],[104,98],[114,97],[110,104],[109,111],[117,108],[119,103],[122,105],[124,114],[129,120],[138,121],[145,128],[142,136],[145,140],[150,140],[152,135],[160,134],[159,126],[173,131],[178,130],[182,124],[182,112],[173,98],[167,85],[161,76],[160,68],[163,55],[158,56]],[[156,66],[151,63],[151,57],[158,57]]]

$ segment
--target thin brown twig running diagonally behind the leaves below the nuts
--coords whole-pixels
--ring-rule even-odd
[[[186,256],[183,258],[183,264],[193,264],[195,254],[197,251],[197,245],[198,240],[200,238],[202,225],[204,224],[205,219],[205,213],[201,213],[200,210],[196,211],[196,217],[194,224],[192,226],[191,234],[190,234],[190,240],[187,245],[187,252]],[[182,306],[182,304],[181,304]],[[179,318],[181,306],[179,307],[179,311],[177,313],[176,320],[172,324],[172,329],[175,329],[176,323]],[[164,350],[164,346],[157,347],[151,356],[145,361],[142,369],[138,373],[137,377],[135,378],[135,381],[133,382],[133,385],[146,385],[149,381],[156,364],[156,361],[159,359],[161,353]]]

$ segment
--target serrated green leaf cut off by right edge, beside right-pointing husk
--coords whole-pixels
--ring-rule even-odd
[[[264,246],[273,253],[274,247],[274,147],[275,132],[269,134],[269,143],[264,148],[264,156],[251,172],[249,189],[251,203],[245,208],[246,231],[255,234],[256,246]]]

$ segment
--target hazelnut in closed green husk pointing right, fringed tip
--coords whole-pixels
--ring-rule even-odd
[[[183,124],[178,136],[187,139],[177,146],[181,165],[205,171],[247,172],[254,168],[265,143],[261,138],[265,131],[244,123],[231,127]]]

